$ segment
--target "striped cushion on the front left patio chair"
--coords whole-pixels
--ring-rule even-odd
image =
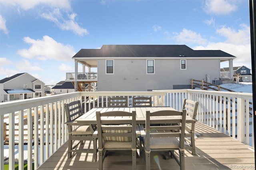
[[[104,125],[104,126],[132,126],[132,125]],[[103,133],[130,133],[132,130],[102,130]],[[132,141],[130,136],[103,136],[103,140],[106,141]]]

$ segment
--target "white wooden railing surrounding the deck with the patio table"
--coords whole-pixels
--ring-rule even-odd
[[[24,169],[24,140],[28,147],[28,169],[38,168],[68,140],[64,103],[81,100],[84,112],[107,107],[110,96],[151,96],[153,106],[180,110],[183,99],[199,102],[197,119],[210,127],[253,146],[252,94],[203,90],[165,90],[145,92],[74,92],[62,95],[0,103],[0,169],[4,168],[4,122],[8,121],[9,168],[14,169],[15,155]],[[24,119],[27,119],[27,125]],[[18,129],[18,131],[16,131]],[[27,131],[27,134],[24,133]],[[18,151],[15,142],[18,140]]]

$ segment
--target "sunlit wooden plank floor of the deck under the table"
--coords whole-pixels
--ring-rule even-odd
[[[217,130],[196,123],[196,154],[186,151],[186,170],[254,170],[254,149]],[[90,144],[90,143],[86,143]],[[38,170],[97,170],[92,154],[74,153],[67,158],[67,142],[55,152]],[[92,144],[90,145],[92,146]],[[152,152],[151,170],[159,170],[155,158],[159,158],[161,170],[179,170],[173,158],[164,159],[161,152]],[[130,170],[132,167],[131,152],[109,152],[106,156],[104,170]],[[145,170],[142,156],[137,158],[137,170]]]

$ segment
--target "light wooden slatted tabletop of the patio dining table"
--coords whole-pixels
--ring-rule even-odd
[[[76,122],[79,124],[96,124],[96,111],[108,112],[108,111],[126,111],[132,112],[136,111],[136,123],[145,124],[146,122],[146,111],[155,112],[162,110],[175,110],[172,107],[104,107],[104,108],[93,108],[90,111],[86,112],[84,115],[76,119]],[[116,121],[124,120],[129,117],[116,117]],[[173,116],[170,117],[158,117],[157,119],[173,119]],[[186,123],[194,123],[195,119],[191,117],[186,118]]]

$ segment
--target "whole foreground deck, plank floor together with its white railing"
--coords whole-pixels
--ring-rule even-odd
[[[67,158],[64,103],[80,100],[86,113],[94,107],[107,107],[110,96],[150,96],[153,107],[172,107],[179,111],[184,98],[198,101],[197,155],[185,152],[186,169],[255,168],[252,93],[179,89],[74,92],[0,103],[0,169],[4,169],[5,148],[9,150],[9,169],[15,169],[16,159],[20,169],[24,169],[26,160],[28,170],[32,170],[32,164],[34,169],[97,169],[98,163],[93,161],[92,155],[75,154]],[[114,158],[106,157],[105,169],[130,169],[126,156],[117,152],[111,154]],[[170,169],[170,166],[179,169],[173,159],[163,160],[159,156],[159,160],[162,169]],[[144,169],[142,158],[138,158],[137,167]],[[153,169],[158,166],[152,164]]]

